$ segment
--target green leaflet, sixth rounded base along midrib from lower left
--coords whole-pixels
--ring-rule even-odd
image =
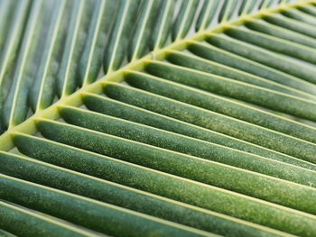
[[[202,79],[196,79],[195,77],[191,77],[191,75],[185,77],[184,73],[181,75],[179,74],[178,77],[175,73],[172,73],[172,75],[173,78],[176,77],[173,81],[182,83],[183,80],[186,79],[183,84],[189,84],[193,87],[207,88],[210,85],[209,83],[208,86],[203,87]],[[153,94],[166,96],[190,105],[196,105],[219,114],[225,114],[277,132],[283,132],[301,138],[302,140],[316,142],[316,130],[311,126],[296,123],[281,116],[270,114],[251,106],[242,105],[221,96],[138,72],[128,73],[125,81],[133,87],[143,89]],[[244,92],[245,91],[246,90],[244,90]]]

